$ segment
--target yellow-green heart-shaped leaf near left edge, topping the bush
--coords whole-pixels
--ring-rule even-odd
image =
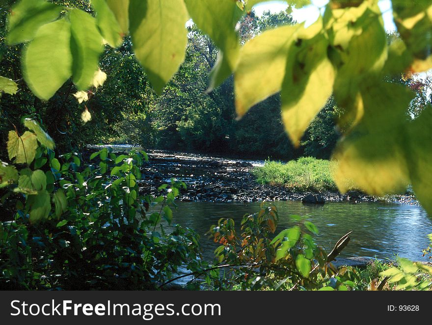
[[[23,135],[18,136],[15,131],[9,131],[7,140],[7,153],[9,159],[14,157],[15,163],[30,164],[36,155],[37,140],[36,135],[26,131]]]

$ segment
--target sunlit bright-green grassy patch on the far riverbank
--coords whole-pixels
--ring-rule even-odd
[[[303,157],[288,163],[266,161],[252,173],[260,184],[285,186],[296,191],[337,191],[331,168],[328,160]]]

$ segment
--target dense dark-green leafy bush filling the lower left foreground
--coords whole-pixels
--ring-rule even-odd
[[[87,165],[71,153],[57,159],[52,139],[25,124],[24,135],[9,136],[14,164],[0,162],[1,205],[16,211],[1,216],[1,288],[155,289],[180,266],[199,270],[199,236],[172,224],[185,183],[140,195],[145,153],[104,148]]]

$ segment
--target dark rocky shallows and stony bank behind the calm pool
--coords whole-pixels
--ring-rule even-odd
[[[293,192],[284,187],[258,184],[251,174],[252,168],[262,165],[262,161],[241,161],[193,154],[150,151],[149,162],[142,167],[140,190],[143,193],[157,194],[158,187],[177,178],[187,183],[182,190],[182,201],[211,202],[254,202],[274,200],[301,201],[310,192]],[[375,197],[357,191],[346,194],[338,192],[319,193],[325,202],[394,202],[417,205],[413,195],[393,195]]]

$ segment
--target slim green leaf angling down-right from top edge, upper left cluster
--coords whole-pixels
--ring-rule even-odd
[[[91,0],[96,12],[96,22],[102,36],[113,47],[119,47],[123,41],[123,31],[105,0]]]

